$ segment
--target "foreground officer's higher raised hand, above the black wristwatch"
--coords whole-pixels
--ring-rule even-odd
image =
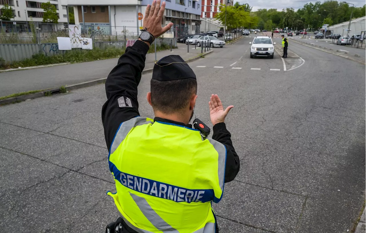
[[[161,19],[163,18],[165,10],[165,1],[161,4],[160,7],[160,0],[154,0],[152,5],[147,5],[145,11],[145,17],[143,19],[143,28],[147,28],[147,31],[151,33],[155,38],[164,34],[168,31],[172,26],[173,23],[168,23],[167,26],[161,27]]]

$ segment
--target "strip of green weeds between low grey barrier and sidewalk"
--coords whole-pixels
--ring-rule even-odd
[[[173,47],[176,48],[176,47]],[[156,51],[170,49],[168,44],[161,44],[156,46]],[[21,61],[14,61],[12,63],[5,63],[0,60],[0,69],[31,67],[37,65],[49,65],[57,63],[78,63],[85,61],[95,61],[119,57],[124,53],[125,48],[108,47],[106,49],[94,48],[93,50],[72,49],[70,51],[60,52],[53,56],[46,56],[44,53],[38,53],[31,58]],[[154,45],[150,46],[148,53],[154,53]]]

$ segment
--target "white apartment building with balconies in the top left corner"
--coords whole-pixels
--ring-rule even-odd
[[[57,15],[59,16],[59,23],[67,23],[67,7],[62,5],[61,1],[52,0],[0,0],[0,15],[1,8],[3,5],[8,4],[13,9],[14,21],[18,22],[29,22],[31,19],[33,22],[42,22],[43,20],[43,9],[41,8],[42,3],[50,2],[56,6]]]

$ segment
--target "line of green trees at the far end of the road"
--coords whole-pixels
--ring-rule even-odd
[[[316,30],[324,24],[335,25],[350,20],[351,11],[352,18],[366,16],[366,4],[363,7],[352,7],[347,3],[329,0],[306,3],[296,11],[294,8],[285,8],[282,11],[259,9],[253,12],[248,4],[240,5],[236,2],[234,6],[221,5],[216,19],[224,24],[226,12],[228,29],[244,27],[273,30],[288,27],[292,30]]]

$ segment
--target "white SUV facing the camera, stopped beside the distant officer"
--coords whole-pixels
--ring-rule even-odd
[[[254,37],[250,44],[250,58],[253,57],[270,57],[273,58],[275,53],[275,44],[270,37]]]

